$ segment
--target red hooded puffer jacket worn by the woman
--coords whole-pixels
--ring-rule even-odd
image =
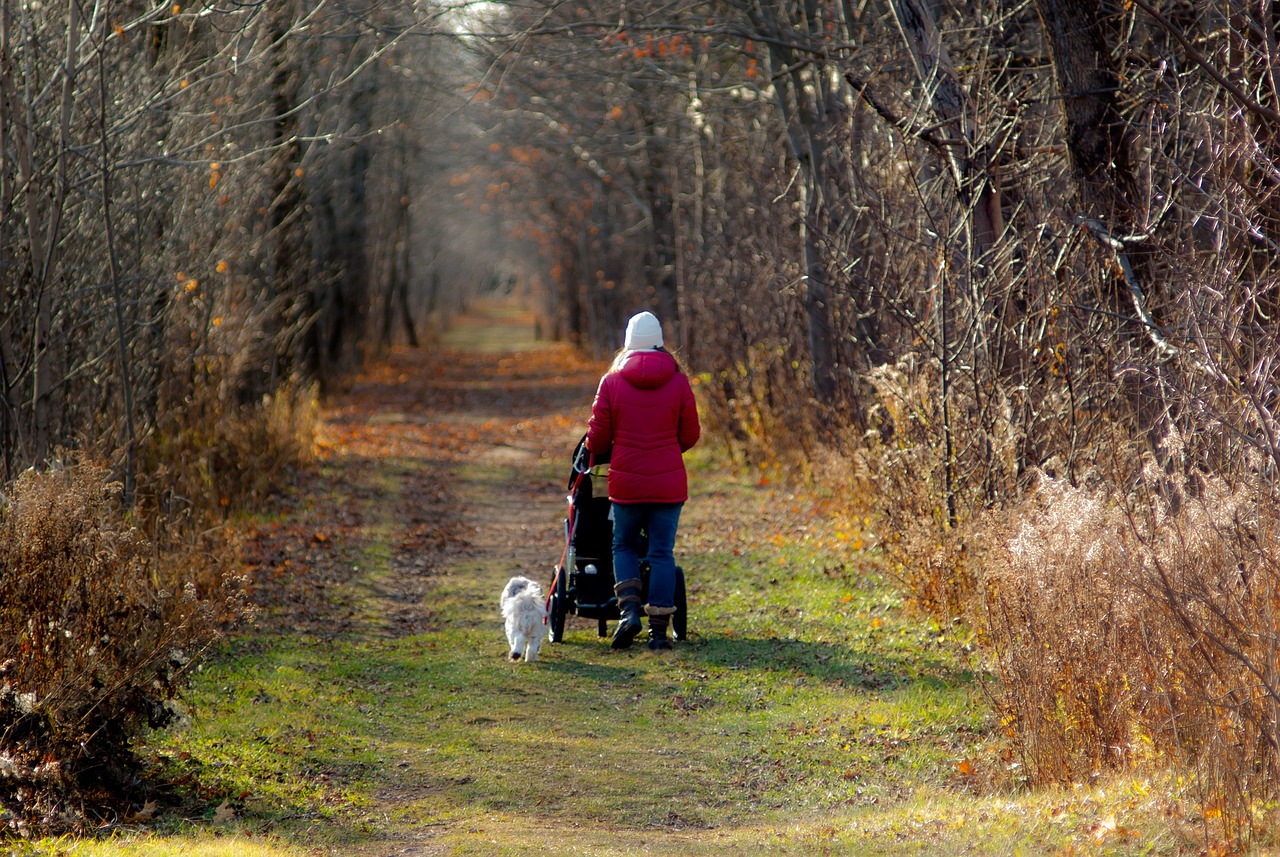
[[[632,352],[622,368],[600,379],[591,404],[586,448],[609,455],[614,503],[684,503],[684,453],[698,443],[698,404],[676,358]]]

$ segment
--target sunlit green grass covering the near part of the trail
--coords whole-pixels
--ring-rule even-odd
[[[965,641],[904,610],[868,522],[713,450],[691,468],[691,640],[614,652],[571,619],[530,665],[503,657],[512,569],[484,532],[433,577],[429,632],[375,622],[412,471],[362,466],[340,492],[362,522],[344,554],[360,629],[229,642],[191,723],[151,741],[183,808],[18,853],[1183,853],[1174,779],[1018,788]],[[562,471],[471,457],[454,477],[470,507],[554,531]],[[553,499],[521,508],[513,484]]]

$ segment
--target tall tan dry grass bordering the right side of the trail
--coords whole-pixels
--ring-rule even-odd
[[[1274,828],[1280,498],[1265,468],[1211,472],[1174,428],[1147,453],[1100,430],[1091,467],[997,472],[1018,485],[989,503],[1000,422],[977,425],[954,388],[948,458],[936,370],[906,361],[870,382],[858,455],[890,570],[918,609],[972,628],[1015,776],[1171,765],[1192,774],[1206,842]]]

